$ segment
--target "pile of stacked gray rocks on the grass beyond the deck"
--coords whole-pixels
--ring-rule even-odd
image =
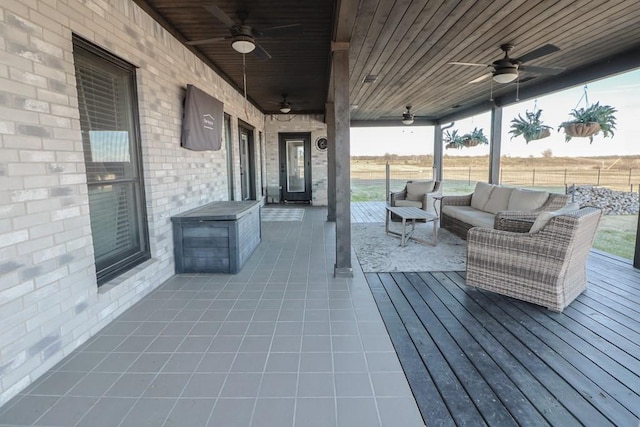
[[[589,185],[569,188],[570,200],[580,206],[596,206],[604,215],[634,215],[638,213],[638,193],[614,191]]]

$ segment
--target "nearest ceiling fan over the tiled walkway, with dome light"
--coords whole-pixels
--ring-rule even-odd
[[[201,44],[215,43],[223,40],[231,40],[231,46],[240,53],[254,52],[254,54],[260,59],[270,59],[271,55],[269,55],[269,52],[267,52],[262,46],[260,46],[256,39],[267,37],[297,36],[302,34],[302,25],[300,24],[281,25],[278,27],[263,28],[262,30],[258,30],[257,28],[253,28],[245,23],[249,16],[249,13],[247,11],[240,10],[236,12],[238,19],[240,20],[240,24],[236,24],[233,19],[231,19],[229,15],[227,15],[218,6],[210,5],[204,6],[204,8],[213,16],[218,18],[220,22],[227,26],[230,35],[226,37],[214,37],[211,39],[194,40],[187,42],[188,45],[196,46]]]

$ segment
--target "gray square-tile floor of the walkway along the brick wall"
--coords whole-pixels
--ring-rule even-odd
[[[263,222],[236,275],[178,275],[0,408],[1,426],[423,426],[326,209]]]

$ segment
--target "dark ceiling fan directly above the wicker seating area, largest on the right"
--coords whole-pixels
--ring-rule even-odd
[[[552,44],[545,44],[537,49],[532,50],[529,53],[522,55],[519,58],[510,58],[509,52],[513,50],[514,45],[511,43],[505,43],[500,45],[500,49],[504,52],[504,58],[498,59],[491,64],[477,64],[473,62],[449,62],[452,65],[471,65],[474,67],[492,67],[493,71],[484,74],[477,79],[471,80],[469,83],[478,83],[493,76],[493,81],[496,83],[509,83],[518,78],[519,71],[530,71],[537,74],[559,74],[564,71],[564,68],[550,68],[550,67],[535,67],[524,65],[525,62],[538,59],[545,55],[549,55],[553,52],[560,50],[559,47]]]

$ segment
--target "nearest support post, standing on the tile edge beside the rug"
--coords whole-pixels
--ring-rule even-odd
[[[351,266],[351,144],[349,108],[349,44],[334,43],[333,103],[336,164],[335,277],[353,277]]]

